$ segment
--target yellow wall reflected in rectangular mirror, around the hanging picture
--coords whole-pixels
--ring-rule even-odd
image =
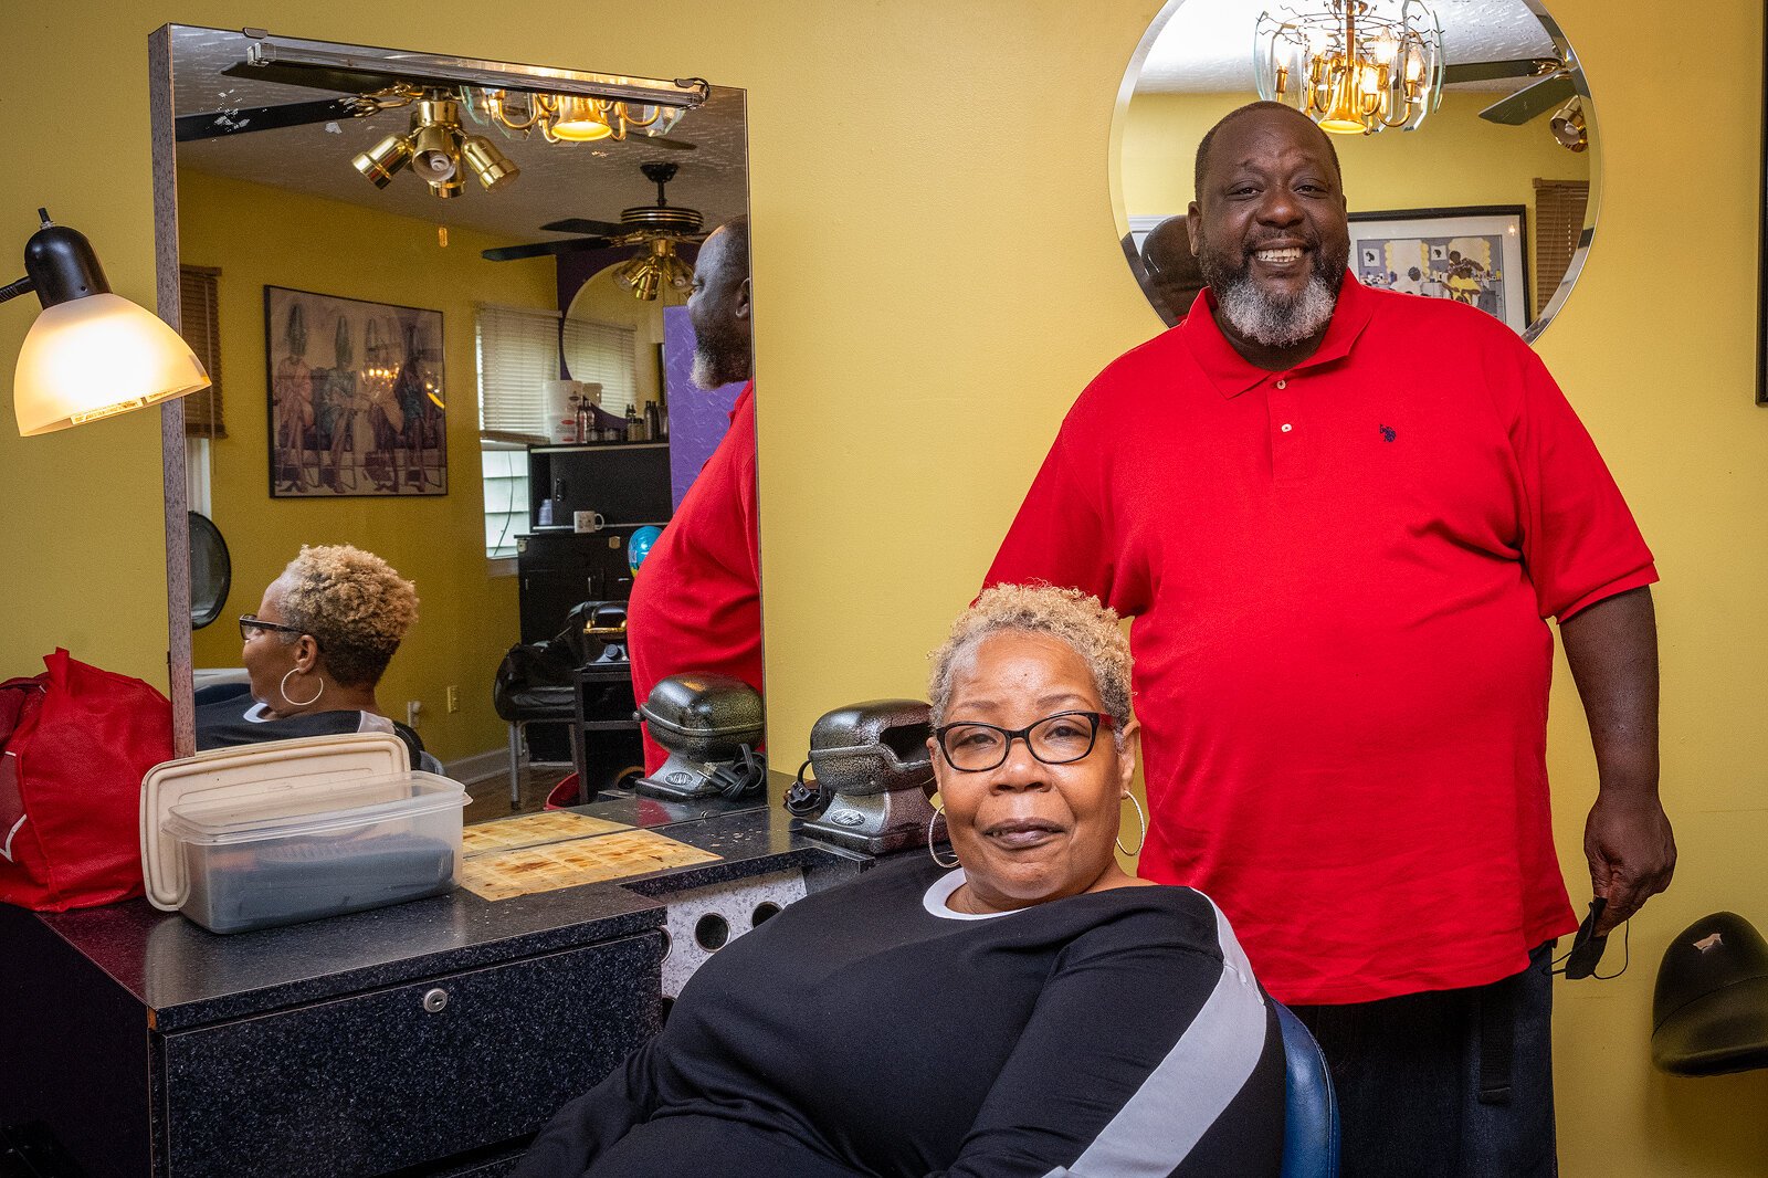
[[[198,667],[237,667],[239,628],[263,587],[301,545],[354,543],[417,584],[419,621],[380,681],[382,709],[400,720],[421,700],[417,731],[444,761],[499,750],[507,729],[492,711],[492,674],[516,623],[516,578],[492,577],[484,559],[474,302],[552,308],[552,265],[499,265],[493,244],[435,225],[336,200],[196,172],[179,173],[184,262],[221,269],[221,364],[228,437],[214,444],[214,520],[233,557],[233,591],[221,621],[198,630]],[[263,389],[263,288],[421,306],[442,311],[449,492],[437,497],[271,499]],[[329,357],[331,340],[315,340]],[[447,715],[446,688],[461,688]]]

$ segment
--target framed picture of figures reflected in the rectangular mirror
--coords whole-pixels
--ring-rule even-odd
[[[446,495],[442,311],[263,288],[271,497]]]

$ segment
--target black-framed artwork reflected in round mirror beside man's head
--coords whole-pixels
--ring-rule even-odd
[[[1365,287],[1455,299],[1522,334],[1529,325],[1522,205],[1351,214],[1351,272]]]

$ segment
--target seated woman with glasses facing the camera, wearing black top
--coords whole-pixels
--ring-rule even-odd
[[[1137,753],[1116,614],[990,589],[932,700],[956,870],[884,860],[721,948],[518,1178],[1278,1173],[1275,1010],[1206,897],[1112,853]]]

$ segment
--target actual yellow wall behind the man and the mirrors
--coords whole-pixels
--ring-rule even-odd
[[[14,9],[0,253],[16,256],[48,203],[94,237],[122,294],[149,302],[138,97],[145,35],[168,16],[746,87],[781,764],[827,708],[921,690],[923,653],[974,594],[1063,410],[1158,327],[1123,265],[1107,179],[1117,88],[1153,0],[702,0],[686,37],[469,0],[313,0],[299,18],[262,0]],[[1729,83],[1699,111],[1660,5],[1558,0],[1554,14],[1597,94],[1609,184],[1589,265],[1540,350],[1660,559],[1664,792],[1683,851],[1674,891],[1634,922],[1628,975],[1561,989],[1563,1173],[1761,1174],[1768,1074],[1669,1079],[1648,1068],[1646,1040],[1674,932],[1717,907],[1768,927],[1768,412],[1752,405],[1763,11],[1701,5],[1726,30],[1703,42],[1701,67]],[[90,76],[118,96],[108,119],[76,131],[42,117]],[[0,310],[0,356],[28,318]],[[7,672],[64,642],[161,676],[156,430],[140,416],[50,439],[0,430]],[[1575,868],[1593,773],[1563,672],[1554,709],[1559,845]]]

